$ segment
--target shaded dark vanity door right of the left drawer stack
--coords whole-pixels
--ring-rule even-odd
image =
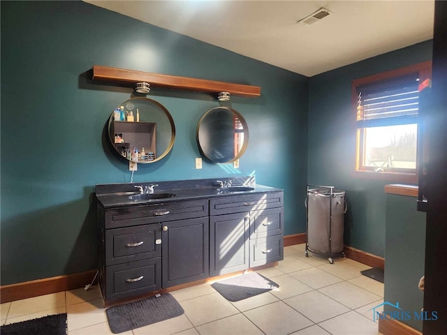
[[[208,217],[161,223],[163,288],[209,276]]]

